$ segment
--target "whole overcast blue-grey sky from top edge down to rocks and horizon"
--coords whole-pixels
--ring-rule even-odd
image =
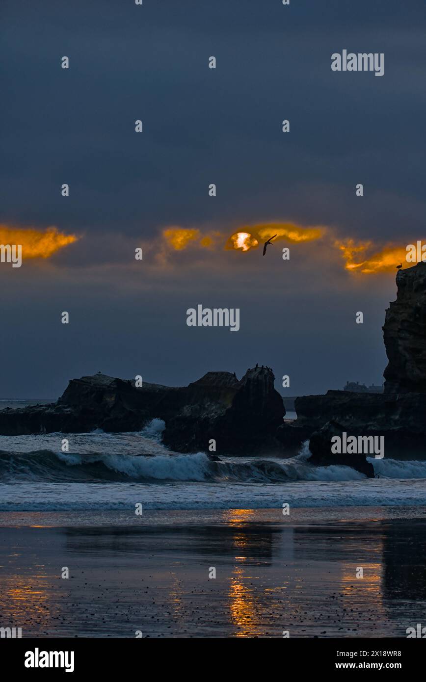
[[[2,243],[12,228],[76,237],[0,263],[0,396],[56,398],[98,370],[186,385],[256,362],[283,395],[382,383],[396,270],[348,271],[339,244],[425,237],[423,0],[3,0],[0,13]],[[332,72],[343,49],[384,53],[384,76]],[[271,222],[321,236],[265,257],[225,249]],[[180,229],[198,232],[176,250],[165,231]],[[240,308],[240,330],[188,327],[198,303]]]

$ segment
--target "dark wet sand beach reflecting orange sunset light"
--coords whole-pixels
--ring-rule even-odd
[[[406,637],[425,617],[421,510],[318,512],[152,512],[132,525],[27,514],[26,526],[2,514],[0,625],[23,637]]]

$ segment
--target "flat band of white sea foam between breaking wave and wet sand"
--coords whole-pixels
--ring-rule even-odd
[[[292,507],[425,506],[425,481],[298,481],[285,484],[174,482],[0,484],[0,511],[144,509],[277,509]],[[281,517],[282,518],[282,517]]]

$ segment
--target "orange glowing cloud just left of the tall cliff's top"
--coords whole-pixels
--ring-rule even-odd
[[[406,261],[405,246],[389,245],[377,250],[371,241],[356,243],[354,239],[336,241],[335,246],[342,252],[345,269],[352,272],[393,272],[399,263]]]

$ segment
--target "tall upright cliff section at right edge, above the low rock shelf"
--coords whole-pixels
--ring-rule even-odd
[[[383,327],[387,394],[426,393],[426,263],[400,270]]]

